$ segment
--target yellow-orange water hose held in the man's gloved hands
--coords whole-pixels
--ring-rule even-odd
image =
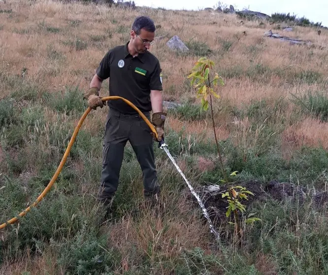
[[[102,101],[109,101],[109,100],[123,100],[125,103],[129,104],[133,109],[135,109],[139,115],[143,118],[143,120],[147,123],[147,125],[150,127],[150,129],[152,130],[152,132],[155,134],[156,138],[158,137],[157,135],[157,132],[155,130],[155,127],[153,126],[153,124],[148,120],[148,118],[133,104],[131,103],[130,101],[122,98],[122,97],[117,97],[117,96],[109,96],[109,97],[104,97],[104,98],[101,98]],[[68,143],[68,146],[66,148],[66,151],[65,151],[65,154],[62,158],[62,161],[61,163],[59,164],[55,174],[53,175],[52,179],[50,180],[50,182],[48,183],[47,187],[43,190],[43,192],[38,196],[38,198],[35,200],[35,202],[27,207],[25,210],[23,210],[22,212],[19,213],[19,216],[23,217],[25,216],[25,214],[31,210],[31,207],[33,206],[36,206],[44,197],[45,195],[49,192],[50,188],[52,187],[52,185],[54,184],[54,182],[56,181],[58,175],[60,174],[60,172],[62,171],[63,169],[63,166],[66,162],[66,159],[67,159],[67,156],[69,154],[69,151],[75,141],[75,138],[77,136],[77,133],[79,132],[85,118],[87,117],[87,115],[89,114],[89,112],[91,111],[91,108],[88,107],[87,110],[84,112],[84,114],[82,115],[82,117],[80,118],[77,126],[75,127],[75,130],[74,130],[74,133],[73,133],[73,136],[70,138],[70,141]],[[14,222],[16,222],[18,220],[17,217],[14,217],[10,220],[8,220],[7,222],[3,223],[0,225],[0,229],[3,229],[5,228],[8,224],[13,224]]]

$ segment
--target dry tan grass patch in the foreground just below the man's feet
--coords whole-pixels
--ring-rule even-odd
[[[209,249],[208,230],[202,226],[198,214],[190,213],[190,206],[182,198],[178,213],[170,215],[170,207],[171,201],[162,201],[161,214],[157,214],[156,209],[141,208],[138,219],[126,215],[119,222],[102,228],[103,232],[110,232],[108,247],[117,248],[122,255],[123,270],[141,266],[147,257],[151,265],[161,267],[158,272],[169,274],[170,270],[165,270],[158,261],[165,259],[173,263],[186,249]]]

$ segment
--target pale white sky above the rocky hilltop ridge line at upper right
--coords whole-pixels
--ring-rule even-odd
[[[188,10],[217,6],[218,2],[218,0],[134,0],[137,6]],[[322,22],[323,26],[328,27],[328,0],[231,0],[231,2],[221,1],[221,3],[228,7],[231,4],[238,10],[246,8],[267,15],[279,12],[294,14],[296,17],[305,16],[314,23]]]

